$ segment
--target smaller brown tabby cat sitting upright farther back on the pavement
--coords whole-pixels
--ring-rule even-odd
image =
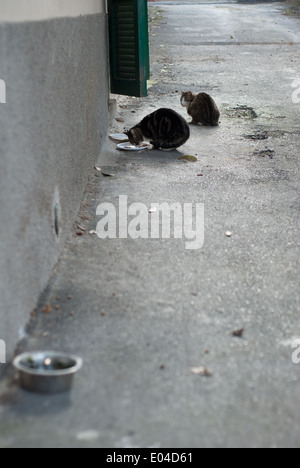
[[[205,126],[215,127],[219,125],[220,111],[211,96],[206,93],[194,94],[191,91],[181,91],[181,105],[187,108],[192,117],[192,123],[201,123]]]

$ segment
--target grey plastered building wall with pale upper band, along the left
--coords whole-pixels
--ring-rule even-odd
[[[7,359],[72,229],[107,132],[104,6],[1,0],[0,339]]]

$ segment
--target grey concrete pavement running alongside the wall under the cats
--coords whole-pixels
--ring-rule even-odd
[[[193,126],[170,153],[107,141],[99,166],[113,177],[91,171],[86,231],[74,229],[19,346],[75,352],[84,367],[70,395],[52,397],[9,371],[1,447],[300,446],[300,33],[284,8],[150,8],[149,96],[120,98],[111,132],[160,106],[185,115],[181,89],[212,94],[221,125]],[[120,195],[204,203],[203,248],[89,234],[97,206]],[[191,371],[203,366],[213,375]]]

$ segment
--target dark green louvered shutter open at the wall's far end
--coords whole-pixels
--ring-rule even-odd
[[[149,35],[147,0],[108,0],[111,92],[147,96]]]

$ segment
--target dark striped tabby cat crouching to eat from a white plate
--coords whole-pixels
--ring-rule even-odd
[[[132,145],[139,146],[144,138],[155,149],[171,151],[179,148],[190,137],[190,128],[181,115],[172,109],[158,109],[147,115],[129,132],[125,132]]]

